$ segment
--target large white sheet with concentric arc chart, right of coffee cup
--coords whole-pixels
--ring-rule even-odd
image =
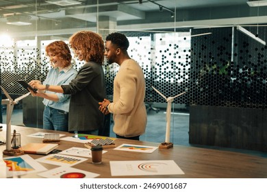
[[[183,171],[174,160],[110,161],[112,176],[181,175]]]

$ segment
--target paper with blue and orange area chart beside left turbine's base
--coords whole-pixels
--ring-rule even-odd
[[[31,158],[31,156],[27,154],[3,158],[3,160],[7,166],[6,171],[8,178],[47,170],[47,168],[43,167],[40,163],[34,160],[34,158]]]

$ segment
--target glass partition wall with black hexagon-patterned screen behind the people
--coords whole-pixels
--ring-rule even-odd
[[[16,80],[43,81],[50,68],[44,47],[79,30],[121,32],[144,71],[145,101],[166,108],[166,97],[190,105],[266,108],[266,7],[246,1],[37,1],[0,2],[1,85],[12,96],[27,91]],[[83,62],[73,58],[75,69]],[[113,93],[117,64],[103,66]],[[2,93],[2,97],[5,95]],[[23,123],[42,128],[42,98],[28,96]],[[174,125],[177,126],[177,125]]]

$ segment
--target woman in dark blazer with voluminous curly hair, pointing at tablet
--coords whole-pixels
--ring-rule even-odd
[[[97,135],[99,129],[103,128],[104,118],[98,103],[106,97],[102,67],[105,45],[99,34],[90,31],[73,34],[69,43],[75,57],[85,61],[75,79],[62,86],[29,84],[38,90],[70,94],[68,131]]]

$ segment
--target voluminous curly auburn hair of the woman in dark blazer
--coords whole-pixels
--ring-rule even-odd
[[[71,49],[75,50],[79,47],[83,51],[86,62],[92,61],[103,65],[105,45],[101,35],[90,31],[80,31],[69,38],[69,43]]]

